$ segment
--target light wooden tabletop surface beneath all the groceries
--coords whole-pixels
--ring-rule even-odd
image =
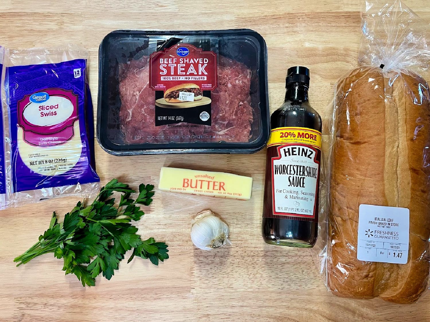
[[[357,66],[358,0],[1,0],[0,44],[9,48],[77,43],[90,52],[89,79],[97,97],[98,46],[116,29],[251,28],[266,39],[271,110],[284,96],[288,67],[310,68],[311,104],[322,114],[336,79]],[[430,5],[406,4],[430,22]],[[83,288],[64,276],[62,260],[44,255],[15,267],[12,260],[37,241],[64,197],[0,212],[0,321],[430,321],[430,295],[409,306],[338,298],[326,291],[311,252],[270,246],[260,236],[265,151],[253,155],[116,157],[96,144],[97,171],[137,187],[158,184],[160,167],[231,170],[252,176],[249,201],[156,192],[139,222],[142,237],[169,244],[170,258],[122,262],[107,281]],[[210,208],[230,226],[232,246],[196,249],[190,220]]]

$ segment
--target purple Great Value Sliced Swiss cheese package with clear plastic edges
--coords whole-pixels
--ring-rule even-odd
[[[87,57],[72,45],[6,50],[3,125],[11,206],[97,193]]]

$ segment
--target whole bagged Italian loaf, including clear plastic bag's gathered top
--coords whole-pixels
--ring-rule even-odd
[[[427,24],[400,1],[366,2],[362,32],[325,122],[317,258],[335,295],[409,304],[429,287]]]

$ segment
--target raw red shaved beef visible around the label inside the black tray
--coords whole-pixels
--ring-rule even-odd
[[[219,56],[218,87],[212,91],[212,125],[155,126],[155,92],[149,86],[149,58],[120,69],[120,125],[126,143],[249,142],[253,121],[251,70]]]

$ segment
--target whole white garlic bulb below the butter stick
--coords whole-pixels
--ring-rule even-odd
[[[231,245],[230,240],[227,239],[229,232],[227,224],[211,210],[198,214],[191,221],[191,240],[196,247],[203,250]]]

